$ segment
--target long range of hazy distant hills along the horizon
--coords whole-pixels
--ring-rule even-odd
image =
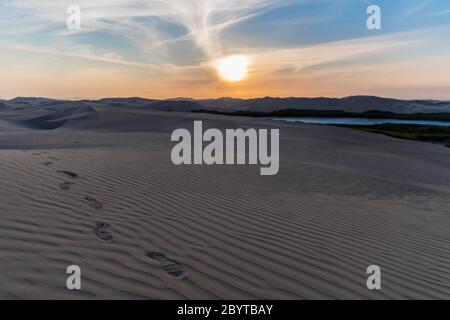
[[[19,97],[8,101],[20,106],[57,106],[61,104],[87,104],[119,108],[143,108],[162,111],[209,110],[220,112],[251,111],[274,112],[280,110],[342,110],[352,113],[383,111],[394,113],[447,113],[449,101],[400,100],[375,96],[350,96],[345,98],[217,98],[191,99],[175,98],[167,100],[145,98],[105,98],[100,100],[64,101],[47,98]]]

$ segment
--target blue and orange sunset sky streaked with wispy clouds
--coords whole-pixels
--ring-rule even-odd
[[[217,68],[233,56],[248,64],[240,81]],[[1,0],[0,70],[2,99],[448,100],[450,1]]]

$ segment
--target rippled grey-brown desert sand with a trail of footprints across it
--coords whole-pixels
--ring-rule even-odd
[[[91,106],[0,119],[2,299],[450,299],[444,146]],[[194,120],[279,128],[279,174],[173,165],[171,132]]]

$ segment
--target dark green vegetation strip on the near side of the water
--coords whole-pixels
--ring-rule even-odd
[[[450,148],[450,127],[403,124],[383,124],[375,126],[339,125],[339,127],[382,133],[399,139],[442,143]]]

